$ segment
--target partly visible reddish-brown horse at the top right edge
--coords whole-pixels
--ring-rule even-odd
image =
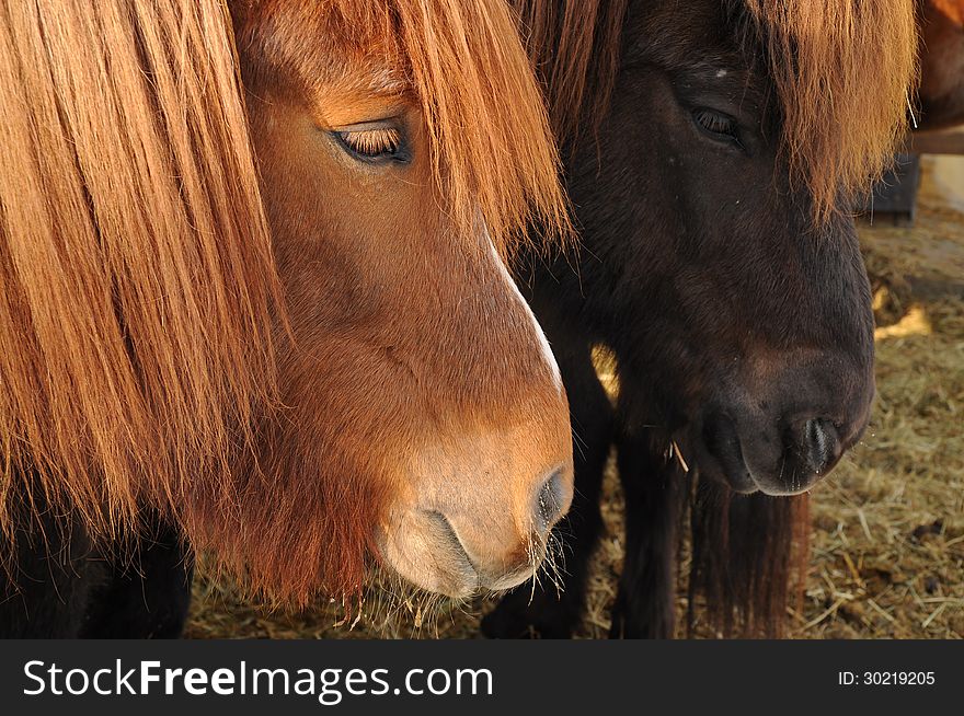
[[[920,129],[964,124],[964,0],[922,0]]]

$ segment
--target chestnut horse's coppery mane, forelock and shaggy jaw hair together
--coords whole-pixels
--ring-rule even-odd
[[[110,539],[148,504],[250,559],[252,586],[305,601],[359,588],[338,546],[367,542],[375,515],[250,474],[284,424],[273,340],[291,336],[234,33],[243,18],[253,42],[272,4],[0,1],[0,527],[12,535],[20,500]],[[503,0],[309,7],[324,51],[398,48],[457,224],[481,217],[506,252],[531,221],[569,234]]]

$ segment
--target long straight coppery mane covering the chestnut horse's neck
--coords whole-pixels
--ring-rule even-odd
[[[14,488],[107,532],[225,482],[271,401],[278,284],[229,27],[215,2],[0,3],[4,532]]]

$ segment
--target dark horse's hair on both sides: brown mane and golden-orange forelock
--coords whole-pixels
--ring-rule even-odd
[[[631,4],[516,0],[561,141],[592,131],[605,116]],[[781,149],[792,176],[812,194],[815,217],[826,220],[841,197],[869,189],[906,131],[915,3],[727,0],[725,10],[735,43],[774,84]],[[686,33],[679,22],[674,32]]]

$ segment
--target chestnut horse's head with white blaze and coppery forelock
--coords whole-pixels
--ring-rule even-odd
[[[572,476],[558,369],[502,259],[529,207],[561,216],[507,12],[266,0],[234,21],[294,337],[245,500],[274,519],[242,520],[244,552],[283,582],[357,578],[370,547],[444,593],[514,586]]]

